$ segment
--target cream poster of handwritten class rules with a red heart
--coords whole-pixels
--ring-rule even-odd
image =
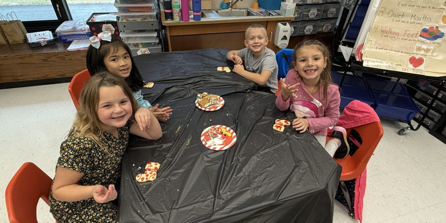
[[[446,76],[446,0],[381,0],[363,48],[364,66]]]

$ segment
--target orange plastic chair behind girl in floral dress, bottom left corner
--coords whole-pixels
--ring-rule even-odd
[[[53,179],[33,163],[24,163],[6,186],[6,210],[10,223],[37,223],[39,198],[49,205]]]

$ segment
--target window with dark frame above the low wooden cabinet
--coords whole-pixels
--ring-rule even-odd
[[[113,2],[114,0],[0,0],[0,13],[5,15],[13,11],[28,32],[55,32],[60,23],[66,20],[87,20],[94,12],[117,12]]]

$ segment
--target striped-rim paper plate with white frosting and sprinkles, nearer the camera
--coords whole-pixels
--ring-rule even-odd
[[[209,126],[201,133],[201,142],[211,150],[228,149],[236,140],[235,132],[224,125]]]

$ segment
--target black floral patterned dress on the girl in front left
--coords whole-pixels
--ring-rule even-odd
[[[85,137],[69,137],[60,145],[57,166],[84,173],[79,185],[114,184],[121,174],[121,160],[128,144],[129,120],[118,128],[118,138],[105,132],[101,138],[107,145],[107,154],[92,140]],[[117,220],[117,207],[111,202],[100,204],[89,198],[76,202],[54,199],[50,191],[50,212],[58,223],[113,223]]]

